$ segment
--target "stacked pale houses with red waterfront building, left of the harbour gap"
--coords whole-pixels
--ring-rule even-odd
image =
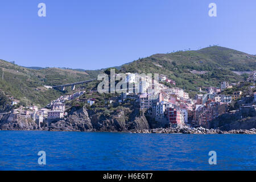
[[[126,73],[126,81],[135,83],[136,73]],[[170,83],[173,88],[164,84]],[[172,126],[184,125],[188,122],[188,108],[193,102],[188,93],[175,87],[175,81],[165,75],[159,75],[159,82],[147,76],[139,82],[139,93],[129,90],[121,94],[121,101],[133,98],[140,109],[147,110],[147,114],[159,122],[171,123]]]

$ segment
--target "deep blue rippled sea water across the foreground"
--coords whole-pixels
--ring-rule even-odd
[[[0,131],[0,170],[255,170],[256,135]],[[38,152],[46,152],[46,165]],[[209,165],[209,151],[217,164]]]

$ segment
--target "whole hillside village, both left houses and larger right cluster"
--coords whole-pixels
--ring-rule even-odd
[[[134,84],[136,75],[137,73],[126,73],[127,83]],[[249,89],[255,90],[255,81],[256,71],[252,72],[245,82],[250,85]],[[159,88],[158,92],[152,92],[156,87]],[[237,88],[236,92],[226,94],[226,90],[233,87]],[[253,97],[249,94],[245,95],[245,90],[239,88],[242,88],[240,82],[229,83],[224,81],[221,82],[219,88],[210,85],[199,88],[199,94],[189,98],[189,94],[184,92],[183,89],[177,88],[175,81],[167,76],[159,75],[159,82],[146,76],[139,83],[139,93],[128,90],[117,97],[113,97],[108,103],[122,103],[132,98],[148,117],[155,119],[156,122],[166,123],[166,127],[207,126],[210,121],[222,114],[236,114],[242,110],[245,112],[246,110],[255,111],[256,92],[252,94]],[[38,108],[37,106],[19,107],[14,110],[14,114],[25,115],[27,118],[31,117],[40,126],[43,122],[49,123],[56,119],[63,119],[68,115],[65,103],[72,100],[80,101],[79,97],[83,94],[85,94],[85,90],[61,96],[51,101],[45,108]],[[155,94],[157,94],[157,97],[155,97]],[[86,102],[86,105],[89,106],[96,102],[94,98],[81,101]],[[232,106],[230,106],[234,101],[240,103],[237,110],[232,110]],[[18,100],[13,99],[12,105],[18,103]]]

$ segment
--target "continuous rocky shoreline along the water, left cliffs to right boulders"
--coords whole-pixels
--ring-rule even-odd
[[[136,110],[135,110],[136,111]],[[123,132],[123,133],[163,133],[163,134],[256,134],[255,122],[249,127],[226,127],[205,129],[203,127],[163,127],[152,125],[144,113],[135,112],[129,120],[125,112],[102,117],[101,114],[88,113],[84,108],[74,110],[67,118],[41,126],[26,115],[7,113],[0,115],[0,130],[23,131],[87,131],[87,132]],[[233,130],[232,130],[233,129]]]

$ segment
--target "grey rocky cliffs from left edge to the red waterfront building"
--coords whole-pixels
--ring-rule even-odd
[[[133,110],[127,113],[118,110],[108,115],[81,109],[72,109],[68,117],[52,121],[45,121],[39,127],[30,116],[19,114],[0,115],[0,130],[46,130],[46,131],[129,131],[149,129],[148,121],[143,112]]]

